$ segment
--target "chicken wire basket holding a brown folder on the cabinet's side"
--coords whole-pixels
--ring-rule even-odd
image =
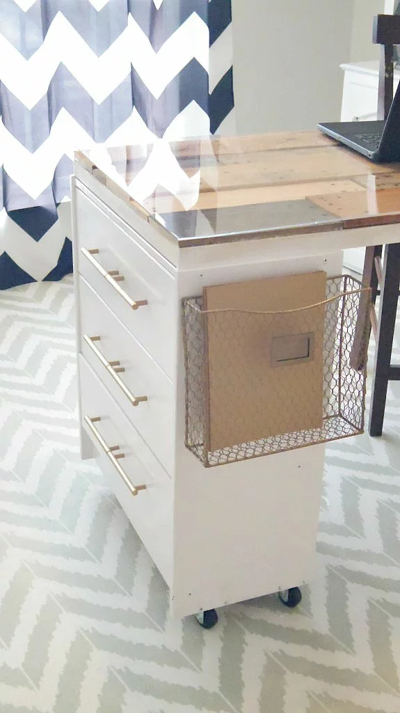
[[[327,279],[325,301],[285,312],[241,309],[205,311],[201,297],[184,299],[186,448],[206,468],[210,468],[362,434],[366,368],[357,370],[352,368],[352,364],[357,318],[364,318],[365,321],[369,314],[369,300],[370,290],[363,288],[357,279],[349,275]],[[249,342],[253,341],[251,349],[254,354],[260,344],[264,349],[263,340],[268,339],[268,334],[293,334],[294,324],[295,331],[301,332],[304,338],[311,334],[312,325],[320,324],[319,332],[314,330],[312,336],[312,349],[315,349],[318,359],[315,358],[311,366],[307,366],[308,371],[305,371],[305,364],[296,364],[298,371],[292,369],[288,379],[286,374],[289,372],[285,371],[288,367],[279,363],[275,364],[278,369],[269,368],[265,374],[260,371],[257,358],[246,366]],[[360,330],[358,324],[357,333],[360,331],[367,334],[367,330]],[[226,344],[228,349],[224,350],[223,358],[221,356],[216,360],[210,383],[208,340],[213,334],[221,335],[222,344]],[[256,341],[251,337],[255,334],[260,335]],[[359,363],[365,364],[365,337],[357,349]],[[272,348],[270,352],[273,352]],[[268,367],[271,363],[268,361]],[[251,384],[253,389],[250,403],[238,393],[234,379],[229,376],[234,374],[236,364],[240,365],[243,383]],[[214,399],[211,408],[214,387],[216,393],[223,394],[223,398]],[[236,428],[243,433],[244,412],[250,430],[246,440],[241,438],[241,442],[236,443],[233,442]],[[267,423],[268,414],[270,423]],[[213,431],[219,430],[219,424],[225,424],[229,419],[232,421],[228,443],[219,443],[218,434],[213,434],[215,438],[210,437],[211,416],[214,420]],[[257,424],[264,421],[265,432],[260,434]],[[302,426],[305,423],[306,428]]]

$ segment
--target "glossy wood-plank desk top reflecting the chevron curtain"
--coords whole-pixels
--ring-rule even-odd
[[[180,247],[400,222],[400,163],[318,132],[100,146],[75,160]]]

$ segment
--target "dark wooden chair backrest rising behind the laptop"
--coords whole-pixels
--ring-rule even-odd
[[[393,101],[394,45],[400,45],[400,16],[375,15],[372,41],[381,45],[377,118],[386,119]]]

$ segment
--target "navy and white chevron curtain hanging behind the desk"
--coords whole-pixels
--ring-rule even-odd
[[[75,148],[232,117],[231,0],[0,0],[0,289],[72,271]]]

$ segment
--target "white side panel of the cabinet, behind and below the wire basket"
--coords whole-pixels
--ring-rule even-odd
[[[201,294],[203,284],[341,269],[342,253],[198,269],[180,275],[179,295]],[[184,446],[181,344],[178,354],[172,612],[184,616],[310,579],[325,446],[204,468]]]

